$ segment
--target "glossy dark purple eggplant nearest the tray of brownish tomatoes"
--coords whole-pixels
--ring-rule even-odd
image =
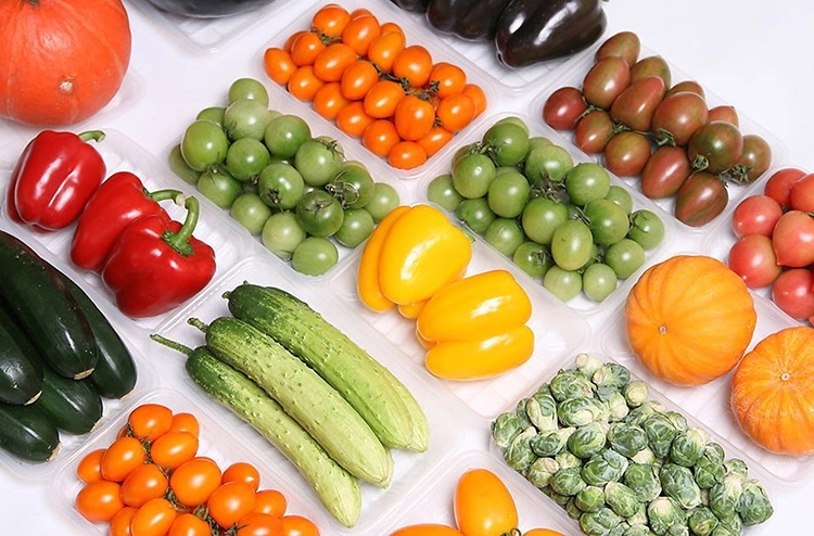
[[[563,58],[605,33],[601,0],[512,0],[497,22],[497,58],[509,67]]]

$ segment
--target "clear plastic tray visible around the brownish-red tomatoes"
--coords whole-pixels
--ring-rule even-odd
[[[561,69],[558,71],[558,73],[555,75],[556,77],[548,84],[548,86],[537,95],[534,98],[534,100],[531,103],[531,107],[529,109],[529,114],[533,117],[538,117],[539,120],[543,120],[543,106],[546,103],[546,100],[548,100],[548,97],[554,93],[556,90],[564,87],[564,86],[572,86],[575,88],[582,88],[583,79],[585,78],[585,75],[587,75],[588,71],[590,71],[590,67],[594,65],[594,55],[596,54],[597,49],[601,46],[603,39],[607,39],[607,37],[603,37],[599,41],[597,41],[595,44],[593,44],[587,51],[584,53],[581,53],[580,55],[572,58],[569,60]],[[647,47],[641,47],[641,52],[639,53],[639,59],[641,58],[648,58],[651,55],[659,55],[657,51],[653,51],[651,49],[648,49]],[[667,62],[667,65],[670,66],[670,72],[672,75],[672,84],[675,85],[676,82],[683,81],[683,80],[696,80],[698,81],[702,87],[704,86],[703,80],[699,80],[697,78],[694,78],[690,74],[686,73],[682,68],[677,67],[673,63],[670,62],[669,58],[664,58],[664,60]],[[729,103],[722,99],[721,97],[710,92],[704,88],[705,93],[705,101],[708,103],[708,106],[710,109],[718,105],[728,105]],[[786,158],[787,150],[786,145],[784,145],[779,139],[777,139],[773,133],[766,131],[763,127],[754,123],[752,119],[749,118],[748,115],[743,114],[743,111],[737,110],[738,118],[740,122],[740,131],[743,135],[758,135],[761,136],[763,139],[768,142],[768,144],[772,148],[772,165],[777,165],[777,163],[783,163]],[[576,145],[574,144],[574,135],[573,130],[561,130],[559,131],[560,136],[568,139],[569,143],[571,143],[574,148]],[[583,153],[578,148],[576,148],[576,151],[585,155],[588,159],[602,163],[602,155],[601,154],[587,154]],[[763,182],[768,177],[768,173],[764,173],[762,176],[760,176],[758,179],[755,179],[754,182]],[[624,179],[625,183],[627,183],[631,189],[635,189],[638,192],[641,191],[641,187],[639,184],[638,177],[632,177]],[[746,192],[749,190],[751,184],[740,184],[733,181],[727,181],[727,191],[729,193],[729,203],[726,205],[726,208],[722,214],[715,218],[715,220],[701,226],[701,227],[690,227],[686,224],[678,221],[674,214],[675,208],[675,195],[665,197],[662,200],[652,200],[657,205],[662,207],[666,214],[670,214],[671,218],[676,222],[676,226],[681,228],[684,231],[687,231],[688,234],[696,234],[696,235],[702,235],[709,231],[709,228],[714,225],[714,221],[718,219],[726,219],[727,216],[732,213],[732,210],[735,208],[735,206],[738,204],[738,202],[743,199],[746,195]]]

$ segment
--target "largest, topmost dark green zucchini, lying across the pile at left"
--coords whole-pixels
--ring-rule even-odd
[[[40,356],[60,374],[82,379],[99,359],[93,332],[53,267],[17,238],[0,231],[0,297]]]

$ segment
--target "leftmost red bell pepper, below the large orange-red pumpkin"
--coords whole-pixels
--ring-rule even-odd
[[[43,130],[29,141],[9,186],[11,218],[40,231],[69,226],[104,178],[102,155],[86,143],[102,138],[99,130],[78,136]]]

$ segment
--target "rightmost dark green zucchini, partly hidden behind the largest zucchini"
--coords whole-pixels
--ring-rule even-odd
[[[61,271],[54,271],[65,283],[68,293],[85,314],[97,341],[99,360],[93,373],[90,374],[90,382],[103,397],[122,398],[132,391],[138,378],[130,350],[127,349],[111,322],[85,291]]]

